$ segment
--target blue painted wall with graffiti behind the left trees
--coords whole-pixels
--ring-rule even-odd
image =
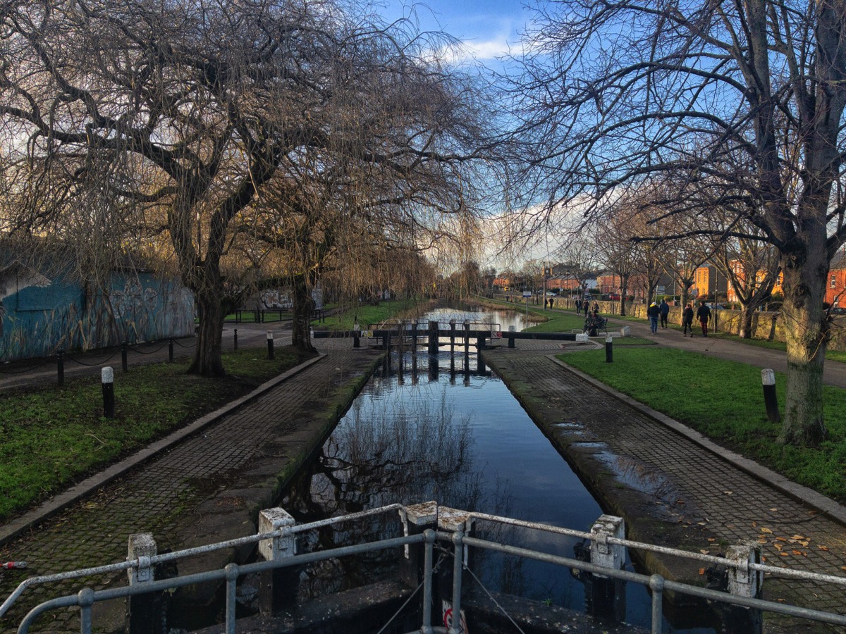
[[[151,274],[114,273],[99,289],[18,268],[0,292],[3,361],[194,334],[193,295]]]

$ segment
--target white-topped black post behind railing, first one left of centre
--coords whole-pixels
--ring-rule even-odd
[[[294,517],[280,508],[259,512],[259,533],[272,533],[279,528],[293,527]],[[293,533],[284,533],[272,539],[259,542],[259,555],[267,561],[282,561],[295,555],[296,542]],[[280,609],[293,605],[297,598],[299,571],[294,566],[276,568],[261,573],[259,582],[259,611],[271,616]]]

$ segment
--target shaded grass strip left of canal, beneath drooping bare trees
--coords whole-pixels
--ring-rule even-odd
[[[157,363],[115,376],[115,418],[102,416],[98,377],[63,387],[7,391],[0,408],[0,520],[46,499],[151,440],[243,396],[300,361],[261,348],[223,355],[229,375],[185,374],[188,362]]]

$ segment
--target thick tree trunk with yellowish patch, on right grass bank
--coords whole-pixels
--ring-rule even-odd
[[[816,446],[827,437],[822,418],[822,366],[829,338],[822,307],[828,276],[826,249],[805,249],[805,258],[788,254],[782,268],[788,387],[778,441]]]

